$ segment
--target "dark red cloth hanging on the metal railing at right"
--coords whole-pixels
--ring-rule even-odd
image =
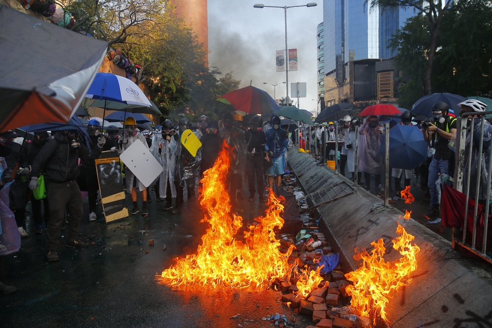
[[[453,189],[447,184],[444,184],[441,197],[441,220],[445,228],[463,227],[464,226],[464,206],[466,195]],[[473,211],[475,209],[475,201],[468,199],[468,215],[466,226],[468,231],[473,231]],[[482,217],[484,208],[482,204],[478,204],[477,216]],[[483,225],[482,219],[479,220],[478,226]]]

